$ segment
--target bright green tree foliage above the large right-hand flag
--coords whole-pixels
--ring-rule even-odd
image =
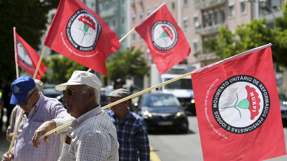
[[[233,34],[230,30],[220,27],[218,38],[210,38],[203,42],[218,59],[229,58],[241,52],[272,43],[274,63],[287,67],[287,3],[283,4],[283,16],[275,20],[276,28],[268,28],[265,18],[254,19],[249,24],[241,24]]]

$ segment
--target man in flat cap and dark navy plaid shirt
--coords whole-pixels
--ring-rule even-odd
[[[116,89],[108,96],[110,103],[130,95],[127,89]],[[128,100],[118,103],[106,110],[112,122],[117,127],[117,140],[120,161],[149,161],[149,138],[144,119],[131,112]]]

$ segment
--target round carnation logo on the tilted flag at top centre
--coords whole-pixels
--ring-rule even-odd
[[[162,51],[172,49],[178,41],[178,32],[169,21],[157,21],[151,29],[153,45]]]

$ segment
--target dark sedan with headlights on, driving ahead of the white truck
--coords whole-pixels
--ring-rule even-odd
[[[188,120],[178,99],[171,94],[143,94],[135,103],[137,114],[146,121],[147,130],[188,131]]]

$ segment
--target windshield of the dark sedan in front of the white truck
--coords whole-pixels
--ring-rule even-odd
[[[180,103],[173,95],[147,95],[142,99],[142,106],[167,107],[180,106]]]

